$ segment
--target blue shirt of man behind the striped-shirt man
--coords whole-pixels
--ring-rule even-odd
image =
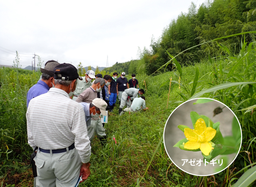
[[[37,84],[33,85],[27,92],[27,107],[29,107],[29,102],[31,99],[47,93],[49,89],[49,86],[44,81],[38,80]]]

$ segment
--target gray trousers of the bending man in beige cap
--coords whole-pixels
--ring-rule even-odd
[[[90,142],[93,141],[94,138],[94,132],[96,135],[101,138],[103,136],[106,136],[105,134],[105,128],[103,128],[101,119],[98,120],[91,120],[91,125],[87,127],[88,137],[90,139]]]

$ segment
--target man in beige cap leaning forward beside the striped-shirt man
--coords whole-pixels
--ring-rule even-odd
[[[105,129],[103,128],[101,119],[99,119],[99,115],[102,114],[103,116],[107,115],[106,108],[108,104],[100,98],[96,98],[93,100],[92,103],[79,103],[85,114],[86,126],[88,137],[90,142],[93,141],[94,132],[98,136],[99,140],[101,141],[101,145],[104,146],[106,143],[106,134]],[[91,118],[98,118],[97,120],[91,120]]]

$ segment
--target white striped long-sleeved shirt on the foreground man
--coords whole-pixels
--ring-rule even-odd
[[[83,163],[90,160],[84,110],[59,88],[31,99],[26,113],[28,143],[50,150],[62,149],[75,142]]]

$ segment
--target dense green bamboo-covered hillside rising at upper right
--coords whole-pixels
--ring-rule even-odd
[[[147,73],[151,75],[169,60],[169,52],[175,56],[178,53],[223,36],[256,30],[256,0],[208,0],[197,9],[191,4],[187,13],[180,13],[163,29],[161,37],[151,39],[150,48],[138,49],[138,60],[116,63],[106,71],[125,71],[131,73]],[[239,52],[241,35],[219,40],[236,54]],[[246,35],[246,41],[252,41],[253,35]],[[219,55],[221,49],[217,43],[201,45],[188,50],[178,57],[182,65],[199,62],[208,55]],[[127,67],[128,66],[128,67]],[[167,66],[171,69],[172,64]],[[159,71],[161,72],[161,71]]]

